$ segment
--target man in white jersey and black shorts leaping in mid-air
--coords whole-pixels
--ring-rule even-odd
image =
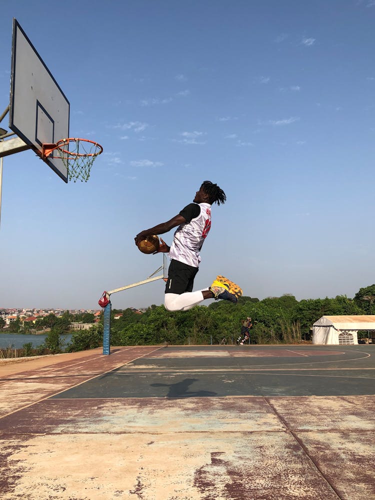
[[[224,276],[217,276],[211,286],[203,290],[192,291],[200,263],[199,252],[211,227],[211,205],[222,204],[225,200],[224,191],[217,184],[205,180],[196,191],[193,203],[186,205],[167,222],[145,229],[135,236],[137,244],[146,236],[164,234],[178,226],[171,246],[160,238],[158,249],[158,252],[168,252],[171,258],[164,297],[167,310],[188,310],[206,298],[236,303],[242,295],[241,288]]]

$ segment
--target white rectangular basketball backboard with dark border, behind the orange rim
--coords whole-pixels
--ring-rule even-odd
[[[43,143],[69,137],[69,110],[69,101],[14,18],[9,127],[41,156]],[[67,182],[60,158],[43,160]]]

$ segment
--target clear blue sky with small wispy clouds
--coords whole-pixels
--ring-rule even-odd
[[[375,1],[5,2],[0,112],[13,17],[70,102],[70,135],[104,151],[87,183],[30,150],[4,158],[0,307],[96,308],[145,279],[161,257],[135,234],[207,179],[227,202],[195,289],[223,274],[300,300],[375,281]],[[160,304],[163,282],[111,301]]]

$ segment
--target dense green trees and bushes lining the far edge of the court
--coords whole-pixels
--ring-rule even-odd
[[[357,315],[372,313],[375,284],[360,288],[353,298],[337,295],[334,298],[297,300],[291,294],[258,298],[242,296],[236,306],[226,301],[197,305],[188,311],[169,312],[163,305],[150,305],[139,314],[132,309],[111,311],[111,345],[157,345],[234,343],[242,321],[250,316],[253,327],[250,341],[254,343],[297,343],[310,340],[312,324],[323,315]],[[114,315],[122,313],[118,319]],[[64,315],[49,314],[42,318],[50,326],[51,341],[61,349],[59,335]],[[67,315],[65,316],[65,319]],[[102,345],[103,318],[88,330],[76,330],[65,351],[84,350]],[[42,321],[41,321],[42,322]],[[62,330],[61,330],[62,329]],[[54,335],[54,336],[53,336]],[[57,336],[56,336],[57,335]],[[53,338],[52,338],[53,336]],[[358,332],[359,336],[359,332]],[[51,349],[50,349],[51,350]],[[60,350],[59,350],[60,351]]]

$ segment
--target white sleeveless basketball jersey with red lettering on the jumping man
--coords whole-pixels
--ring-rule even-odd
[[[211,205],[198,203],[200,213],[197,217],[177,227],[170,246],[169,257],[198,267],[199,251],[211,227]]]

